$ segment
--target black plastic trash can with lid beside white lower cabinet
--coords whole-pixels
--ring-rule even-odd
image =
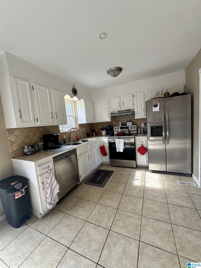
[[[12,176],[0,181],[0,197],[8,223],[19,228],[30,219],[28,181],[22,176]]]

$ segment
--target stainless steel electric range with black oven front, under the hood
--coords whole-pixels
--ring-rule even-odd
[[[118,126],[113,128],[114,136],[108,137],[111,166],[136,167],[135,135],[137,126]],[[116,139],[124,140],[123,152],[117,152]]]

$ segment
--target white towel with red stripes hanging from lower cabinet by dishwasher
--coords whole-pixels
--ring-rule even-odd
[[[55,196],[59,192],[59,184],[56,178],[48,170],[47,172],[47,208],[52,208],[55,201]]]

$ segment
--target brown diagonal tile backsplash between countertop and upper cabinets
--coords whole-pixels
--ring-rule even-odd
[[[122,123],[132,121],[133,125],[137,125],[137,129],[141,129],[141,123],[146,123],[146,118],[143,119],[129,119],[121,120]],[[102,122],[102,123],[89,123],[89,124],[79,124],[79,135],[77,131],[71,132],[72,138],[80,137],[86,138],[86,132],[91,129],[98,130],[101,135],[101,128],[107,127],[107,125],[119,126],[119,121]],[[85,132],[83,132],[85,128]],[[99,129],[100,128],[100,129]],[[60,133],[59,126],[46,126],[46,127],[34,127],[34,128],[19,128],[19,129],[7,129],[8,139],[10,143],[11,157],[17,157],[24,155],[22,147],[25,145],[32,145],[42,141],[42,135],[48,133]],[[66,142],[70,141],[70,134],[68,132],[62,132],[59,135],[59,141],[63,141],[64,136],[66,136]]]

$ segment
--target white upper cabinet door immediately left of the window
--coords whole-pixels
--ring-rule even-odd
[[[67,124],[67,119],[63,92],[53,89],[52,93],[54,99],[55,123],[58,123],[58,125],[65,125]]]

